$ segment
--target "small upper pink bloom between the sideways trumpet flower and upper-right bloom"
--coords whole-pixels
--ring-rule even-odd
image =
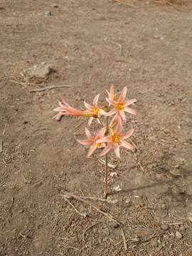
[[[88,122],[89,126],[91,125],[94,117],[100,117],[100,114],[106,114],[104,110],[98,107],[99,97],[100,97],[99,94],[95,96],[95,98],[93,99],[92,105],[84,102],[84,105],[87,108],[86,112],[92,114],[92,117],[90,117],[90,120]]]

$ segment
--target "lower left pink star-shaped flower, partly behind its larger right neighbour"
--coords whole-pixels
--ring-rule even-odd
[[[106,128],[104,127],[100,129],[99,132],[97,132],[95,137],[92,137],[92,135],[90,134],[90,131],[87,128],[85,128],[85,134],[87,136],[87,139],[83,139],[83,140],[78,139],[78,142],[84,146],[90,145],[90,149],[88,151],[87,156],[90,156],[95,151],[95,149],[97,149],[97,147],[104,145],[102,143],[98,143],[97,140],[102,139],[102,137],[105,135],[105,132],[106,132]]]

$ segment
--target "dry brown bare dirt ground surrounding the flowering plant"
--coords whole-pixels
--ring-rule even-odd
[[[191,1],[124,2],[0,1],[1,256],[192,255]],[[56,73],[41,84],[11,82],[42,62]],[[112,83],[138,100],[137,158],[110,154],[116,203],[66,201],[102,198],[104,166],[76,141],[82,119],[57,122],[53,108],[60,95],[75,107],[104,98]],[[29,92],[50,85],[70,87]]]

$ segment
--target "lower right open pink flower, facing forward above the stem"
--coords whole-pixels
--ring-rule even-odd
[[[114,154],[116,154],[116,156],[120,158],[120,146],[124,146],[124,148],[126,149],[131,149],[132,151],[135,151],[134,146],[132,146],[132,144],[130,144],[129,142],[126,142],[126,139],[132,136],[134,129],[130,129],[129,132],[123,134],[121,133],[121,125],[118,123],[115,129],[109,127],[109,132],[109,136],[97,140],[97,143],[107,142],[107,146],[105,147],[105,149],[103,149],[102,154],[100,154],[100,156],[104,156],[111,149],[114,149]]]

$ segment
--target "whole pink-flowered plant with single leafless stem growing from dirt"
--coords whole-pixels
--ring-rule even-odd
[[[127,87],[124,87],[119,94],[114,93],[113,85],[110,87],[110,92],[107,92],[106,101],[107,105],[101,107],[98,105],[100,95],[95,96],[92,105],[84,102],[85,110],[77,110],[74,107],[68,105],[62,98],[59,102],[59,107],[55,108],[58,114],[55,116],[67,115],[74,117],[88,117],[88,126],[92,124],[95,119],[100,125],[100,129],[95,135],[90,133],[90,130],[85,128],[85,134],[87,139],[78,139],[78,142],[84,146],[90,146],[87,156],[93,154],[98,148],[102,148],[102,152],[99,156],[105,156],[105,192],[104,196],[107,198],[108,192],[108,152],[114,149],[114,154],[120,158],[120,146],[126,149],[135,151],[136,149],[132,144],[127,142],[134,132],[134,129],[130,129],[128,132],[122,132],[122,122],[126,122],[125,112],[130,114],[136,114],[135,110],[129,107],[137,100],[126,100]]]

